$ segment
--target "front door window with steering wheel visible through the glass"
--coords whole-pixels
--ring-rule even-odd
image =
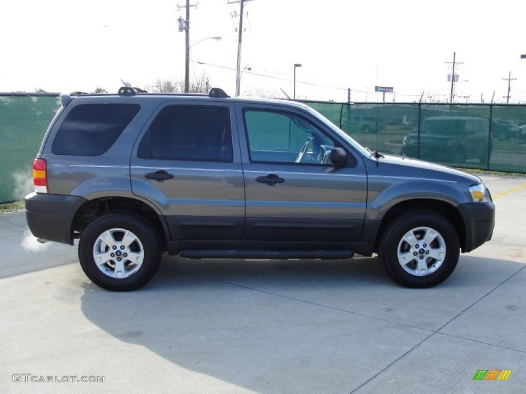
[[[243,113],[250,161],[326,164],[332,139],[295,113],[247,109]]]

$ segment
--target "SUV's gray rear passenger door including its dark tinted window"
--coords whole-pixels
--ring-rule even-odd
[[[161,105],[131,154],[131,188],[165,215],[172,240],[241,240],[245,192],[234,105]],[[234,138],[232,138],[234,137]]]

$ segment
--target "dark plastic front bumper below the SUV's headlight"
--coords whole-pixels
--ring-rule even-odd
[[[495,205],[492,201],[461,204],[457,209],[462,215],[466,234],[462,253],[471,252],[491,240],[495,225]]]

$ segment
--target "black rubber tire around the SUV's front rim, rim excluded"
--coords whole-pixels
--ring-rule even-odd
[[[404,234],[417,227],[430,227],[440,233],[446,244],[446,257],[436,271],[425,275],[412,275],[398,262],[398,245]],[[411,288],[436,286],[445,281],[457,266],[460,242],[453,225],[442,215],[426,210],[412,210],[397,216],[387,224],[380,235],[378,255],[387,273],[398,284]]]

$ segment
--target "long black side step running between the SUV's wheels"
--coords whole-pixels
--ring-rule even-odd
[[[322,260],[339,260],[351,258],[355,252],[349,250],[318,250],[318,251],[258,251],[245,249],[230,250],[194,250],[185,249],[179,256],[186,258],[264,258],[288,260],[290,258],[320,258]]]

